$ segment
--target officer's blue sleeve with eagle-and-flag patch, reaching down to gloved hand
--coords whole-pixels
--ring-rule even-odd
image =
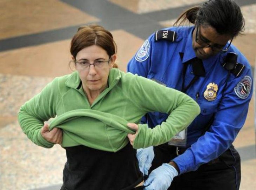
[[[203,163],[217,158],[231,146],[247,116],[252,96],[251,79],[251,70],[248,69],[239,78],[228,82],[210,129],[198,138],[191,148],[173,160],[180,174],[198,169]],[[238,89],[241,82],[250,85],[248,94],[243,91],[237,92],[241,90]]]

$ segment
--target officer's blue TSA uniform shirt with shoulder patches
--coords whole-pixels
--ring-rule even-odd
[[[152,34],[129,61],[127,71],[181,90],[183,79],[186,87],[194,78],[191,64],[188,65],[186,74],[183,76],[184,63],[196,57],[192,48],[194,27],[171,27],[164,30],[177,32],[176,40],[174,42],[164,39],[155,41],[155,35]],[[228,52],[235,52],[238,56],[237,62],[243,64],[244,68],[237,77],[231,73],[223,92],[228,71],[222,67],[222,63]],[[220,156],[233,143],[245,122],[252,96],[251,67],[234,45],[230,46],[228,52],[218,53],[202,60],[206,75],[200,76],[186,91],[186,94],[200,105],[201,113],[188,127],[187,147],[189,148],[173,160],[178,165],[180,174],[196,170],[203,163]],[[180,53],[184,53],[183,59]],[[204,97],[204,92],[209,89],[210,83],[215,83],[218,88],[216,99],[211,101],[208,97]],[[243,89],[245,85],[246,90]],[[205,126],[214,113],[213,124],[202,136]],[[149,127],[154,127],[166,120],[167,115],[153,112],[146,118]]]

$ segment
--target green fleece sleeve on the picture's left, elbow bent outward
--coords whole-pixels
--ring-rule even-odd
[[[55,79],[41,93],[34,96],[20,108],[18,120],[21,129],[36,145],[45,148],[51,148],[54,145],[45,140],[40,131],[44,121],[56,115],[55,108],[59,99],[58,94],[58,79]]]

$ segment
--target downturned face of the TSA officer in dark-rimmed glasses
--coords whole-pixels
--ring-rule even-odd
[[[192,46],[196,57],[207,59],[220,52],[230,39],[230,35],[220,35],[211,26],[196,25],[193,32]],[[205,47],[207,44],[213,47]]]

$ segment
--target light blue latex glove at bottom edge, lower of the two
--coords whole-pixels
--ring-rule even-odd
[[[164,163],[150,173],[148,179],[143,184],[147,186],[144,190],[167,190],[173,178],[177,175],[178,171],[173,166]]]

